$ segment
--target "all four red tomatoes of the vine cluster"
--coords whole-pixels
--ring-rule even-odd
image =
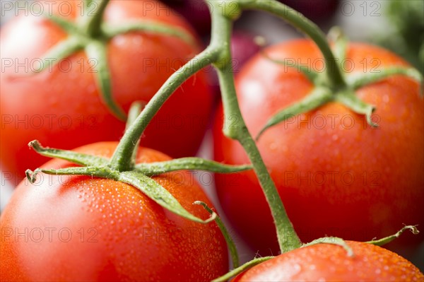
[[[71,12],[60,16],[78,19],[82,6],[71,2]],[[165,4],[148,0],[107,5],[105,23],[131,19],[169,24],[196,37],[189,23]],[[21,179],[28,168],[73,166],[57,159],[45,163],[47,158],[28,149],[33,139],[110,158],[124,134],[125,123],[110,112],[96,84],[93,64],[98,61],[85,52],[32,74],[33,65],[67,36],[52,20],[35,14],[19,16],[1,29],[2,178],[8,174]],[[240,35],[237,40],[252,38]],[[178,37],[139,32],[113,37],[107,42],[107,64],[114,101],[127,112],[132,102],[151,100],[171,74],[201,51],[199,42],[191,45]],[[237,56],[237,46],[234,50]],[[314,42],[294,40],[268,47],[242,66],[235,86],[253,136],[313,87],[304,74],[268,57],[308,62],[322,59],[322,54]],[[407,66],[395,54],[365,44],[351,44],[346,58],[352,74],[363,71],[364,59],[369,67]],[[215,160],[249,163],[242,146],[223,135],[223,128],[236,121],[224,116],[222,105],[214,109],[216,78],[210,70],[185,81],[160,108],[141,137],[137,163],[195,155],[211,119]],[[396,75],[356,94],[375,105],[373,118],[379,127],[329,102],[290,117],[257,141],[302,242],[326,235],[367,241],[396,233],[405,223],[424,225],[424,102],[419,84]],[[153,179],[187,211],[208,218],[201,206],[192,205],[204,201],[213,206],[192,177]],[[216,174],[216,192],[243,239],[262,255],[277,254],[273,220],[254,172]],[[45,175],[35,184],[23,180],[0,226],[1,281],[210,281],[228,271],[228,251],[216,223],[179,218],[131,185],[114,180],[58,175]],[[411,249],[420,242],[422,235],[406,234],[389,248]],[[315,270],[322,268],[328,270],[328,279],[336,280],[423,279],[406,259],[385,249],[348,245],[355,260],[339,246],[314,245],[260,264],[237,281],[318,281],[324,274]],[[371,269],[367,261],[378,265]],[[403,264],[404,271],[386,276],[393,264]],[[365,272],[353,271],[357,268]]]

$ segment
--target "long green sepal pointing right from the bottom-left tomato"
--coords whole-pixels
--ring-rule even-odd
[[[146,175],[160,175],[176,170],[205,170],[218,173],[232,173],[252,170],[252,165],[225,165],[203,158],[176,158],[156,163],[139,163],[136,170]]]

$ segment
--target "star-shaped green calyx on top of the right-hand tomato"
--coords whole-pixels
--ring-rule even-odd
[[[331,60],[342,63],[346,60],[348,39],[343,35],[339,28],[331,29],[329,37],[330,40],[334,42],[334,58]],[[376,107],[360,100],[360,98],[358,98],[355,94],[355,90],[358,90],[358,88],[363,86],[367,86],[368,84],[382,81],[384,78],[388,78],[389,76],[408,76],[420,83],[421,95],[423,93],[423,76],[421,76],[418,70],[411,67],[394,66],[379,69],[377,71],[374,70],[374,72],[370,71],[347,75],[346,72],[342,71],[343,66],[341,66],[341,64],[336,64],[332,67],[336,67],[338,69],[336,72],[342,75],[343,83],[334,84],[329,81],[328,72],[317,72],[310,67],[295,64],[293,61],[273,59],[265,52],[262,52],[262,54],[266,57],[266,59],[269,59],[275,64],[281,64],[285,67],[296,69],[298,72],[305,75],[305,77],[314,85],[314,88],[312,88],[311,92],[308,93],[302,100],[295,102],[293,105],[290,105],[274,114],[273,117],[266,122],[261,131],[259,131],[256,138],[257,140],[259,140],[260,136],[270,127],[284,122],[285,119],[290,117],[315,110],[328,102],[339,102],[356,114],[364,115],[367,123],[371,127],[378,127],[378,124],[372,122],[372,113],[376,110]],[[326,64],[329,64],[328,60],[326,60]]]

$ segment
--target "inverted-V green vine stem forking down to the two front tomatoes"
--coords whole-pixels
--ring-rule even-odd
[[[231,1],[230,4],[238,2]],[[225,5],[227,4],[227,5]],[[208,64],[213,64],[218,71],[218,78],[220,81],[221,93],[223,94],[223,105],[225,115],[227,117],[237,117],[239,121],[237,126],[225,128],[224,134],[232,139],[236,139],[241,143],[249,160],[252,162],[254,171],[257,174],[259,183],[266,200],[271,208],[274,223],[276,224],[276,233],[278,244],[281,252],[288,252],[292,249],[298,248],[302,245],[298,235],[296,235],[293,225],[288,219],[287,213],[277,192],[276,186],[269,175],[268,170],[261,158],[256,143],[247,130],[246,124],[242,118],[240,107],[237,102],[237,95],[235,93],[234,79],[232,76],[231,66],[231,51],[230,51],[230,35],[232,30],[232,20],[234,15],[240,14],[235,11],[231,15],[226,12],[230,10],[229,4],[225,1],[212,1],[211,2],[211,16],[212,16],[212,37],[211,44],[194,57],[187,64],[182,66],[179,71],[175,72],[168,78],[165,84],[158,90],[153,98],[148,102],[136,121],[126,131],[122,140],[112,156],[110,167],[113,170],[126,171],[131,170],[131,155],[136,150],[136,142],[141,138],[143,131],[146,129],[147,124],[151,122],[153,116],[158,112],[167,98],[174,93],[174,91],[185,81],[187,78],[200,71]],[[234,11],[233,7],[231,11]],[[331,50],[329,51],[331,52]]]

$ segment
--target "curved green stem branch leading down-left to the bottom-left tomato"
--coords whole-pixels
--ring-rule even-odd
[[[178,71],[167,79],[163,86],[147,103],[143,111],[134,121],[134,123],[126,130],[114,155],[110,161],[110,166],[119,171],[131,170],[131,155],[136,150],[137,141],[146,129],[153,116],[158,112],[163,103],[170,98],[172,93],[184,83],[190,76],[196,74],[205,66],[208,66],[218,57],[216,49],[208,47],[196,57],[191,59],[187,64],[182,66]]]

